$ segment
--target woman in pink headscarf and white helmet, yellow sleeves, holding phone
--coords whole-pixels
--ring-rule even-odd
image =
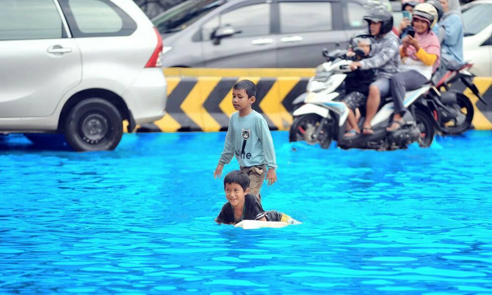
[[[403,98],[407,90],[415,90],[431,79],[439,65],[440,43],[431,31],[437,22],[437,10],[429,3],[413,8],[412,27],[415,36],[406,35],[400,47],[400,72],[391,77],[391,95],[395,104],[393,122],[388,131],[400,129],[405,123]]]

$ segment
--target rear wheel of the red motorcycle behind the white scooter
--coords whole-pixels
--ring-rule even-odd
[[[473,104],[463,93],[456,93],[457,102],[452,107],[458,110],[458,117],[449,122],[441,122],[441,130],[448,135],[458,135],[466,131],[473,120]]]

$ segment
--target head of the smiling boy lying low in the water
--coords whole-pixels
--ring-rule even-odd
[[[244,204],[244,199],[249,194],[249,177],[240,170],[227,173],[224,177],[225,197],[233,207]]]

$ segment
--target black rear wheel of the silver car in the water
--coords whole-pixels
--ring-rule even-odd
[[[68,113],[64,133],[76,151],[114,150],[123,135],[123,119],[111,102],[87,98]]]

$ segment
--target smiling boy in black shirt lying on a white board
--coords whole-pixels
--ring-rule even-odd
[[[237,224],[243,220],[298,223],[286,214],[277,211],[265,212],[258,199],[249,194],[249,177],[243,171],[227,173],[224,177],[224,191],[227,203],[215,218],[218,224]]]

